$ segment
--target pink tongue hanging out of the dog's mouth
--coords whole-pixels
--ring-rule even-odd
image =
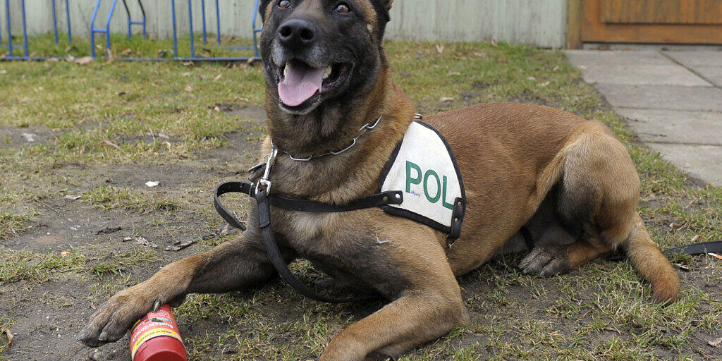
[[[289,61],[286,69],[286,79],[278,84],[278,95],[285,105],[301,105],[323,87],[323,72],[326,68],[311,68],[296,61]]]

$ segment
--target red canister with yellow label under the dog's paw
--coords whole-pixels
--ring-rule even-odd
[[[133,361],[188,361],[170,305],[149,312],[131,332]]]

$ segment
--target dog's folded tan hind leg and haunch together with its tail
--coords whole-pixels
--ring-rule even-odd
[[[562,158],[557,213],[562,224],[582,235],[570,245],[534,248],[520,264],[523,271],[565,272],[622,246],[651,282],[654,300],[674,300],[677,274],[639,217],[639,177],[625,147],[601,123],[589,121],[570,134]]]

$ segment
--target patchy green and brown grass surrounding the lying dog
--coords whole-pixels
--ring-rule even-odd
[[[170,48],[167,41],[126,42],[121,36],[113,43],[113,53],[134,56]],[[78,42],[66,51],[48,37],[35,46],[35,53],[62,57],[88,49]],[[639,209],[661,247],[722,238],[722,189],[701,185],[644,147],[562,53],[505,43],[388,42],[386,48],[394,79],[422,113],[518,101],[603,121],[635,161],[642,181]],[[58,207],[62,212],[86,207],[83,212],[114,222],[144,216],[129,226],[133,234],[197,239],[199,233],[216,232],[220,224],[209,191],[219,181],[243,176],[255,156],[253,149],[243,149],[248,154],[229,161],[222,153],[238,139],[257,142],[263,133],[224,109],[263,105],[262,82],[261,68],[248,64],[0,62],[0,239],[38,232],[35,227]],[[45,140],[17,142],[22,132]],[[233,134],[240,137],[232,144]],[[181,168],[186,171],[164,191],[119,178]],[[81,198],[62,203],[66,195]],[[234,203],[240,216],[248,210],[245,204]],[[90,302],[97,303],[147,277],[157,261],[181,257],[127,243],[104,245],[113,237],[92,236],[84,241],[92,244],[79,244],[66,257],[0,248],[0,284],[44,282],[63,295],[58,274],[76,275]],[[200,248],[231,237],[203,238]],[[675,256],[673,262],[690,272],[680,272],[680,300],[661,308],[648,303],[648,284],[626,263],[593,262],[541,279],[518,273],[516,257],[497,259],[460,278],[471,323],[401,360],[715,360],[719,354],[703,338],[721,336],[722,303],[715,284],[722,266],[689,256]],[[307,281],[319,278],[307,264],[294,269]],[[191,295],[177,316],[181,331],[188,330],[191,360],[306,360],[378,307],[313,303],[274,283],[225,295]],[[17,321],[18,315],[9,317]]]

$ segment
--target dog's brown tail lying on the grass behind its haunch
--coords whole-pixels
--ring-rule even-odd
[[[635,225],[627,239],[627,257],[632,265],[649,283],[652,284],[652,300],[669,305],[679,292],[679,277],[657,245],[649,238],[639,214],[635,215]]]

